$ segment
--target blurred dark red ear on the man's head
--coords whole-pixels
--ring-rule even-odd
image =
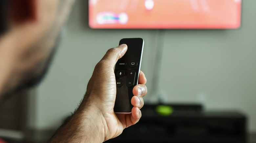
[[[11,20],[15,24],[37,20],[37,0],[11,0]]]

